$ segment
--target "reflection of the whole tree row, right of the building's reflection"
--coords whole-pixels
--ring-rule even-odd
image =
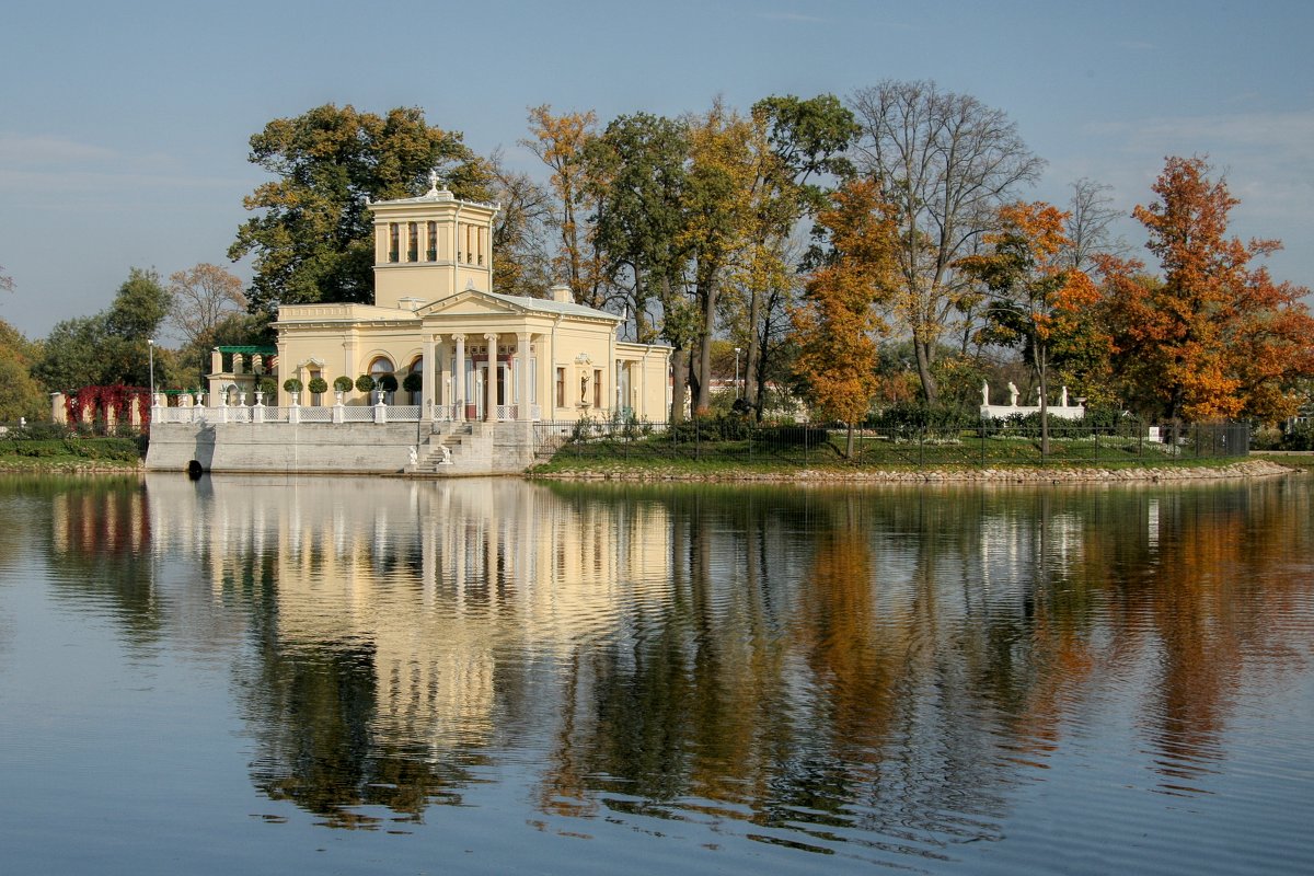
[[[677,603],[577,676],[597,709],[558,738],[570,793],[953,833],[945,795],[999,816],[1008,772],[1144,671],[1163,759],[1209,758],[1292,598],[1267,569],[1307,556],[1298,515],[1272,525],[1282,483],[671,495]]]

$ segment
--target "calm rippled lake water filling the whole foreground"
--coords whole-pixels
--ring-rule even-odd
[[[7,873],[1314,869],[1311,478],[0,478]]]

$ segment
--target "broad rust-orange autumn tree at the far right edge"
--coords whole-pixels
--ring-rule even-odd
[[[1227,236],[1238,201],[1209,179],[1200,158],[1168,158],[1159,197],[1133,215],[1162,277],[1137,260],[1105,256],[1114,365],[1129,401],[1168,419],[1254,418],[1296,412],[1294,382],[1314,374],[1314,319],[1307,289],[1273,282],[1251,263],[1277,240]]]

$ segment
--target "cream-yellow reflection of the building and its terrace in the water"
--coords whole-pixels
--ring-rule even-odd
[[[280,646],[372,651],[376,732],[398,745],[487,742],[503,655],[560,663],[670,596],[658,504],[576,508],[519,481],[204,483],[196,500],[148,478],[156,546],[205,556],[218,602],[272,558]]]

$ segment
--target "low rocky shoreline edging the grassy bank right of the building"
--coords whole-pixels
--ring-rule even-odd
[[[1223,481],[1300,474],[1268,460],[1247,460],[1226,466],[1160,466],[1129,469],[929,469],[929,470],[845,470],[800,469],[795,471],[714,471],[690,473],[661,469],[597,469],[591,471],[531,473],[552,481],[636,481],[708,483],[1162,483],[1166,481]]]

